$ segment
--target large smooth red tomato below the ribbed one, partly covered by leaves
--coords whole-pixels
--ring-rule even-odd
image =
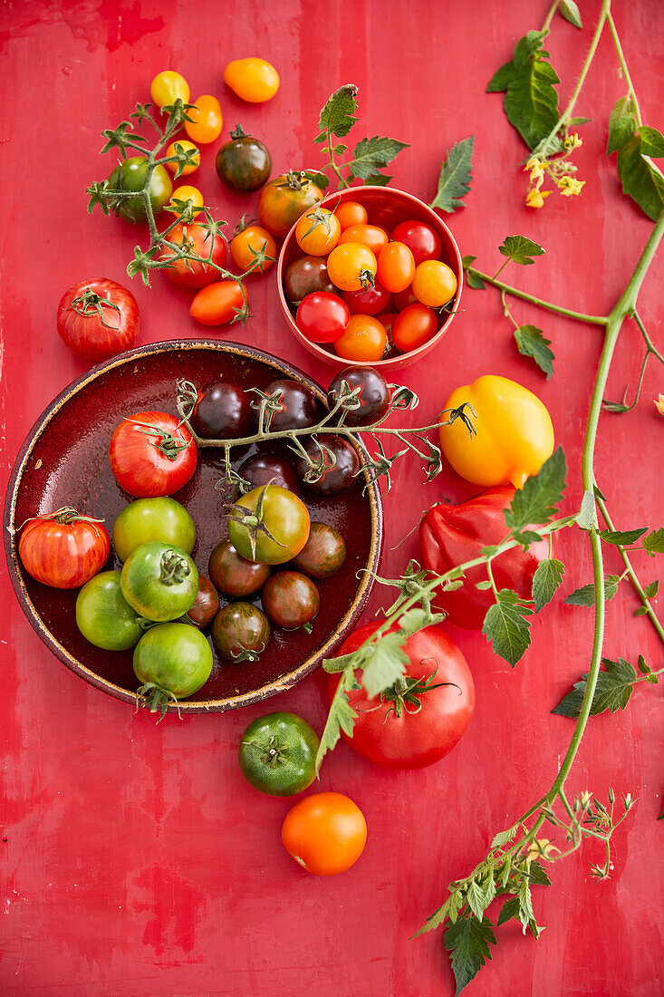
[[[339,654],[356,651],[381,622],[356,630]],[[343,731],[341,736],[353,751],[377,765],[424,769],[460,741],[475,711],[475,684],[466,658],[440,626],[428,626],[407,637],[404,650],[408,666],[403,683],[396,683],[381,697],[369,698],[364,688],[348,693],[358,717],[353,736]],[[330,702],[338,684],[339,675],[330,675]]]

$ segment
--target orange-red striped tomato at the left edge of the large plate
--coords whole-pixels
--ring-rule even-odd
[[[52,588],[85,585],[110,553],[106,526],[70,505],[28,519],[19,540],[19,557],[28,574]]]

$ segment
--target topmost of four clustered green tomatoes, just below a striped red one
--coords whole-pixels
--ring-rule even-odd
[[[126,561],[142,543],[161,540],[190,554],[196,542],[193,519],[174,498],[138,498],[126,505],[113,527],[113,545]]]

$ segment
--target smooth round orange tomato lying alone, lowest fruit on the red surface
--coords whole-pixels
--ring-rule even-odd
[[[337,875],[353,865],[367,842],[367,822],[342,793],[312,793],[286,814],[281,840],[314,875]]]

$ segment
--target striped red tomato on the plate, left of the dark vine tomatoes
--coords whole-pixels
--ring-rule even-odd
[[[111,471],[134,498],[171,496],[186,485],[198,452],[186,426],[167,412],[123,419],[111,437]]]

